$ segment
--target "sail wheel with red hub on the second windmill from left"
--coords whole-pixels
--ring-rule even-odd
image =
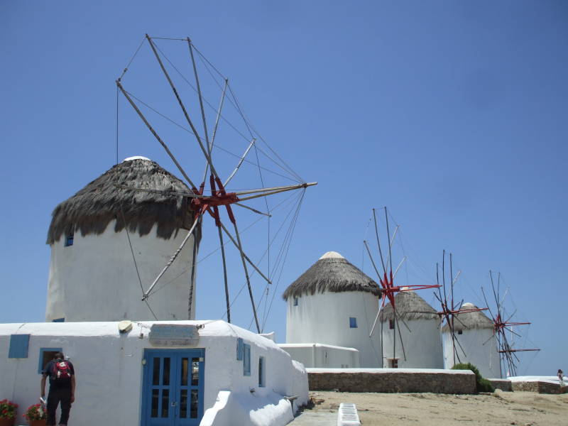
[[[381,258],[381,266],[382,266],[382,271],[383,271],[382,274],[379,272],[379,270],[376,266],[376,262],[374,261],[373,255],[371,254],[371,249],[368,246],[368,242],[363,241],[363,244],[364,244],[366,251],[368,253],[368,257],[371,259],[371,264],[373,265],[373,269],[375,270],[375,272],[378,276],[378,280],[381,283],[381,288],[382,288],[381,290],[383,292],[383,300],[381,302],[381,305],[378,307],[378,312],[377,312],[377,315],[375,317],[375,321],[373,322],[373,327],[371,327],[371,333],[369,334],[369,337],[371,337],[373,335],[374,329],[376,327],[376,323],[377,323],[379,317],[381,316],[381,313],[383,312],[383,307],[385,307],[386,300],[388,300],[388,302],[390,302],[392,310],[393,310],[393,326],[391,327],[391,329],[393,329],[393,357],[392,357],[392,359],[394,360],[395,357],[396,357],[396,340],[397,340],[396,336],[397,336],[397,332],[398,332],[398,339],[400,341],[400,347],[403,351],[403,357],[406,361],[406,352],[405,352],[405,348],[404,348],[403,337],[402,337],[402,334],[400,332],[400,327],[398,327],[398,324],[400,322],[402,322],[405,325],[406,329],[408,329],[409,332],[412,332],[412,330],[410,329],[410,327],[408,327],[408,324],[406,324],[406,322],[396,312],[395,295],[397,295],[397,293],[403,293],[403,292],[408,292],[408,291],[412,291],[412,290],[425,290],[427,288],[437,288],[437,287],[439,287],[439,285],[420,285],[420,284],[418,284],[418,285],[404,285],[404,286],[395,285],[394,279],[396,278],[396,274],[400,270],[400,267],[403,266],[403,263],[406,260],[406,256],[403,257],[403,259],[400,261],[400,263],[398,263],[398,266],[393,271],[392,248],[393,248],[393,243],[395,241],[395,236],[396,236],[396,233],[398,231],[399,226],[397,225],[395,227],[395,230],[393,231],[393,236],[391,237],[391,231],[390,231],[390,226],[389,226],[389,222],[388,222],[388,210],[387,210],[386,207],[384,207],[384,212],[385,212],[386,235],[387,235],[387,243],[388,243],[388,256],[386,256],[386,258],[385,258],[385,256],[383,256],[383,249],[381,248],[381,239],[379,238],[379,233],[378,233],[378,223],[377,223],[377,217],[376,217],[376,210],[373,209],[373,223],[374,223],[374,226],[375,226],[375,236],[376,236],[376,242],[377,242],[377,246],[378,246],[378,254],[379,254],[379,258]],[[382,322],[382,318],[381,318],[381,325],[382,324],[383,324],[383,322]],[[384,359],[384,349],[383,349],[383,339],[381,338],[381,361],[383,359]],[[393,364],[393,366],[394,366],[394,364]]]

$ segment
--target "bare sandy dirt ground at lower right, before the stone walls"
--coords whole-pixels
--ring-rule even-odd
[[[567,426],[568,394],[501,392],[480,395],[439,393],[310,392],[310,410],[337,413],[355,403],[361,425]]]

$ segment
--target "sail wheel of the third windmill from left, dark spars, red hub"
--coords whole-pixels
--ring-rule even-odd
[[[439,263],[436,263],[436,283],[439,285]],[[461,275],[461,271],[458,271],[455,278],[454,278],[454,268],[453,268],[453,259],[452,253],[449,253],[449,292],[446,290],[446,251],[442,251],[442,285],[438,287],[438,293],[434,293],[435,297],[437,298],[438,302],[441,305],[441,310],[439,310],[438,315],[440,320],[442,320],[442,326],[445,323],[445,327],[449,329],[449,335],[452,339],[452,356],[454,365],[457,363],[461,363],[461,359],[459,357],[459,349],[461,349],[461,354],[466,354],[463,346],[459,342],[459,339],[456,336],[456,322],[459,322],[461,327],[468,328],[466,324],[462,320],[459,319],[460,314],[471,314],[473,312],[481,312],[487,310],[486,307],[469,307],[466,305],[464,307],[464,300],[462,299],[459,303],[455,303],[454,300],[454,284],[457,282],[457,279]],[[442,292],[443,289],[443,292]],[[449,297],[449,298],[448,298]],[[457,361],[457,362],[456,362]]]

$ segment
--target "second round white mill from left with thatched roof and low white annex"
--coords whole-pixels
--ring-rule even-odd
[[[288,312],[280,347],[294,359],[307,367],[381,366],[381,334],[369,337],[381,289],[339,253],[325,253],[283,298]]]

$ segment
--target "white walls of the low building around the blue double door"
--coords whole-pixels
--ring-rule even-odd
[[[174,323],[205,324],[196,347],[205,349],[204,410],[214,421],[203,425],[234,425],[231,414],[241,416],[240,425],[285,425],[292,419],[292,410],[283,395],[299,395],[295,408],[307,403],[305,370],[271,340],[223,321],[168,322]],[[0,399],[8,398],[23,408],[37,403],[40,348],[61,347],[77,373],[71,422],[140,425],[143,349],[160,347],[148,341],[153,322],[143,324],[146,327],[134,324],[129,334],[119,334],[116,322],[0,324]],[[143,339],[138,338],[140,332]],[[10,335],[16,333],[31,334],[26,359],[8,358]],[[243,361],[236,360],[237,337],[251,344],[251,376],[243,375]],[[263,388],[258,387],[258,356],[266,359]],[[229,392],[233,402],[228,410],[215,411],[212,408],[222,391]],[[16,424],[25,423],[21,414]],[[266,418],[273,423],[263,423]]]

